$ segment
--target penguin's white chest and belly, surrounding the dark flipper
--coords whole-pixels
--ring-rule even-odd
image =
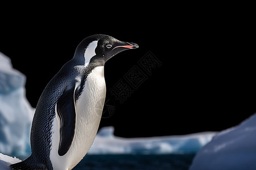
[[[59,156],[60,122],[53,120],[50,159],[53,169],[72,169],[88,152],[96,137],[106,96],[104,66],[98,66],[87,76],[84,89],[76,101],[75,136],[67,154]]]

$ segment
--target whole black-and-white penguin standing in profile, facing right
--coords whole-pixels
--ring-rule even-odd
[[[86,37],[73,58],[47,84],[31,126],[31,155],[12,169],[69,170],[88,152],[105,103],[104,65],[139,46],[108,35]]]

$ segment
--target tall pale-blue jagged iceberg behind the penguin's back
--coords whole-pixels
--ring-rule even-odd
[[[13,69],[0,53],[0,152],[30,154],[30,128],[34,108],[26,99],[26,76]]]

